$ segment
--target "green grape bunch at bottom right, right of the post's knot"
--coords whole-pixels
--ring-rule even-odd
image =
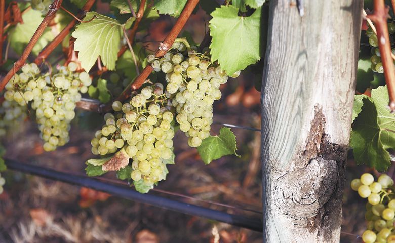
[[[362,234],[365,243],[395,243],[395,194],[393,180],[386,174],[380,175],[377,182],[365,173],[360,179],[351,181],[351,188],[362,198],[368,198],[365,219],[367,230]]]

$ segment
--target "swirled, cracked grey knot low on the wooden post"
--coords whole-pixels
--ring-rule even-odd
[[[338,178],[337,163],[318,157],[303,169],[285,173],[273,184],[273,199],[281,215],[299,227],[308,226],[309,219],[331,198]]]

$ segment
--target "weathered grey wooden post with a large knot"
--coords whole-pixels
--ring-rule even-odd
[[[264,242],[339,242],[361,0],[270,1],[262,82]]]

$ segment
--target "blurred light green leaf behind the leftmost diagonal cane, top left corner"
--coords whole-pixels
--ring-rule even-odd
[[[30,9],[22,15],[22,19],[23,24],[18,23],[10,30],[8,35],[8,41],[10,42],[11,48],[18,54],[22,54],[27,43],[29,43],[31,37],[38,28],[38,25],[41,24],[43,17],[40,11]],[[32,53],[37,55],[52,38],[53,34],[47,28],[34,45]]]

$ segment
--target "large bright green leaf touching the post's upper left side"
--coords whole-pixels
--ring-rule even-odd
[[[239,10],[232,6],[221,6],[211,13],[210,49],[211,60],[218,60],[228,75],[243,70],[260,59],[261,9],[251,16],[238,16]]]

